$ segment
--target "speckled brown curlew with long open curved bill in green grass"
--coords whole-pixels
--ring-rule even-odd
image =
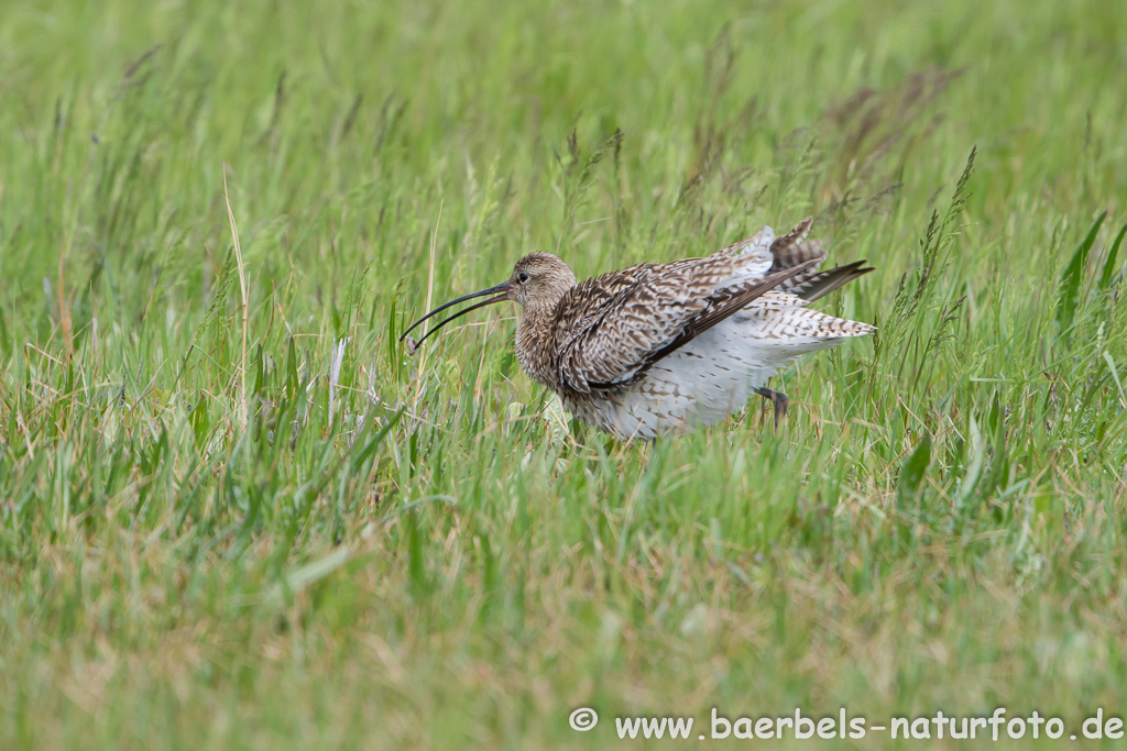
[[[873,270],[860,260],[819,271],[822,242],[806,217],[783,235],[770,226],[706,258],[640,263],[576,283],[560,258],[533,252],[506,281],[434,309],[400,337],[423,341],[471,311],[521,306],[516,357],[580,422],[616,438],[691,432],[767,399],[774,424],[788,396],[767,388],[807,352],[876,331],[808,307]],[[489,297],[446,318],[417,342],[408,334],[459,303]]]

